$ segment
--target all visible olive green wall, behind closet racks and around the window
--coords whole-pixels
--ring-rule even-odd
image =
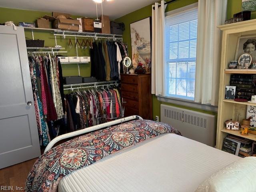
[[[177,0],[175,2],[172,2],[168,4],[166,8],[166,12],[170,10],[174,10],[192,3],[198,2],[198,0]],[[234,13],[241,11],[241,0],[228,0],[228,10],[227,10],[227,19],[232,18]],[[116,22],[124,22],[126,30],[124,31],[123,40],[124,42],[128,43],[129,46],[129,54],[131,55],[131,38],[130,38],[130,23],[136,22],[138,20],[147,18],[152,15],[151,11],[152,5],[148,5],[144,8],[141,8],[139,10],[136,10],[132,13],[129,13],[125,16],[122,16],[118,19],[116,19]],[[0,23],[4,23],[6,21],[13,21],[15,24],[18,24],[18,22],[34,22],[37,18],[40,18],[44,16],[45,14],[51,15],[51,12],[38,12],[38,11],[28,11],[28,10],[17,10],[17,9],[9,9],[9,8],[0,8]],[[77,18],[79,16],[72,16],[73,18]],[[256,18],[256,14],[252,13],[252,18]],[[25,35],[27,38],[32,38],[31,32],[25,32]],[[45,46],[54,46],[54,36],[50,34],[50,32],[35,32],[34,33],[35,39],[43,39],[45,40]],[[57,38],[58,45],[61,45],[62,47],[66,48],[66,51],[68,53],[64,53],[64,55],[68,56],[76,56],[75,48],[72,49],[68,48],[68,40],[62,39],[61,37]],[[71,38],[73,45],[75,44],[74,38]],[[79,56],[88,56],[89,51],[79,49]],[[83,64],[80,65],[80,73],[83,77],[90,76],[90,63],[89,64]],[[78,75],[78,68],[77,65],[63,65],[63,75],[64,76],[72,76],[72,75]],[[153,97],[153,117],[158,115],[160,117],[160,104],[163,102],[160,102],[157,100],[157,97],[155,95]],[[164,103],[167,105],[173,105],[176,107],[181,107],[184,109],[192,109],[195,111],[201,111],[204,113],[210,113],[215,114],[214,112],[209,111],[203,111],[199,109],[193,109],[189,107],[184,106],[178,106],[170,103]]]

